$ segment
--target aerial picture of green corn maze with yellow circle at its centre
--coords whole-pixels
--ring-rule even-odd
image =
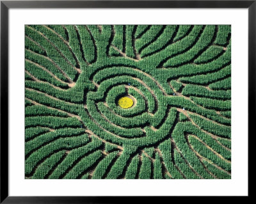
[[[230,37],[26,25],[25,178],[231,178]]]

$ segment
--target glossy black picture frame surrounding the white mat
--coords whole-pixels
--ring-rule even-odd
[[[255,136],[256,1],[1,1],[1,200],[0,203],[122,203],[145,202],[143,197],[14,197],[8,193],[8,13],[10,8],[248,8],[248,150]],[[252,155],[252,154],[251,154]],[[250,158],[250,152],[248,152]],[[250,161],[250,159],[249,159]],[[248,161],[248,164],[249,164]],[[250,169],[250,166],[249,166]],[[248,180],[250,184],[250,179]],[[249,185],[250,186],[250,185]],[[250,190],[248,196],[250,198]],[[159,202],[159,197],[149,198]],[[189,201],[198,199],[186,197]],[[212,199],[216,199],[212,198]],[[218,199],[218,198],[217,198]],[[223,199],[223,198],[221,198]],[[228,198],[229,199],[229,198]]]

